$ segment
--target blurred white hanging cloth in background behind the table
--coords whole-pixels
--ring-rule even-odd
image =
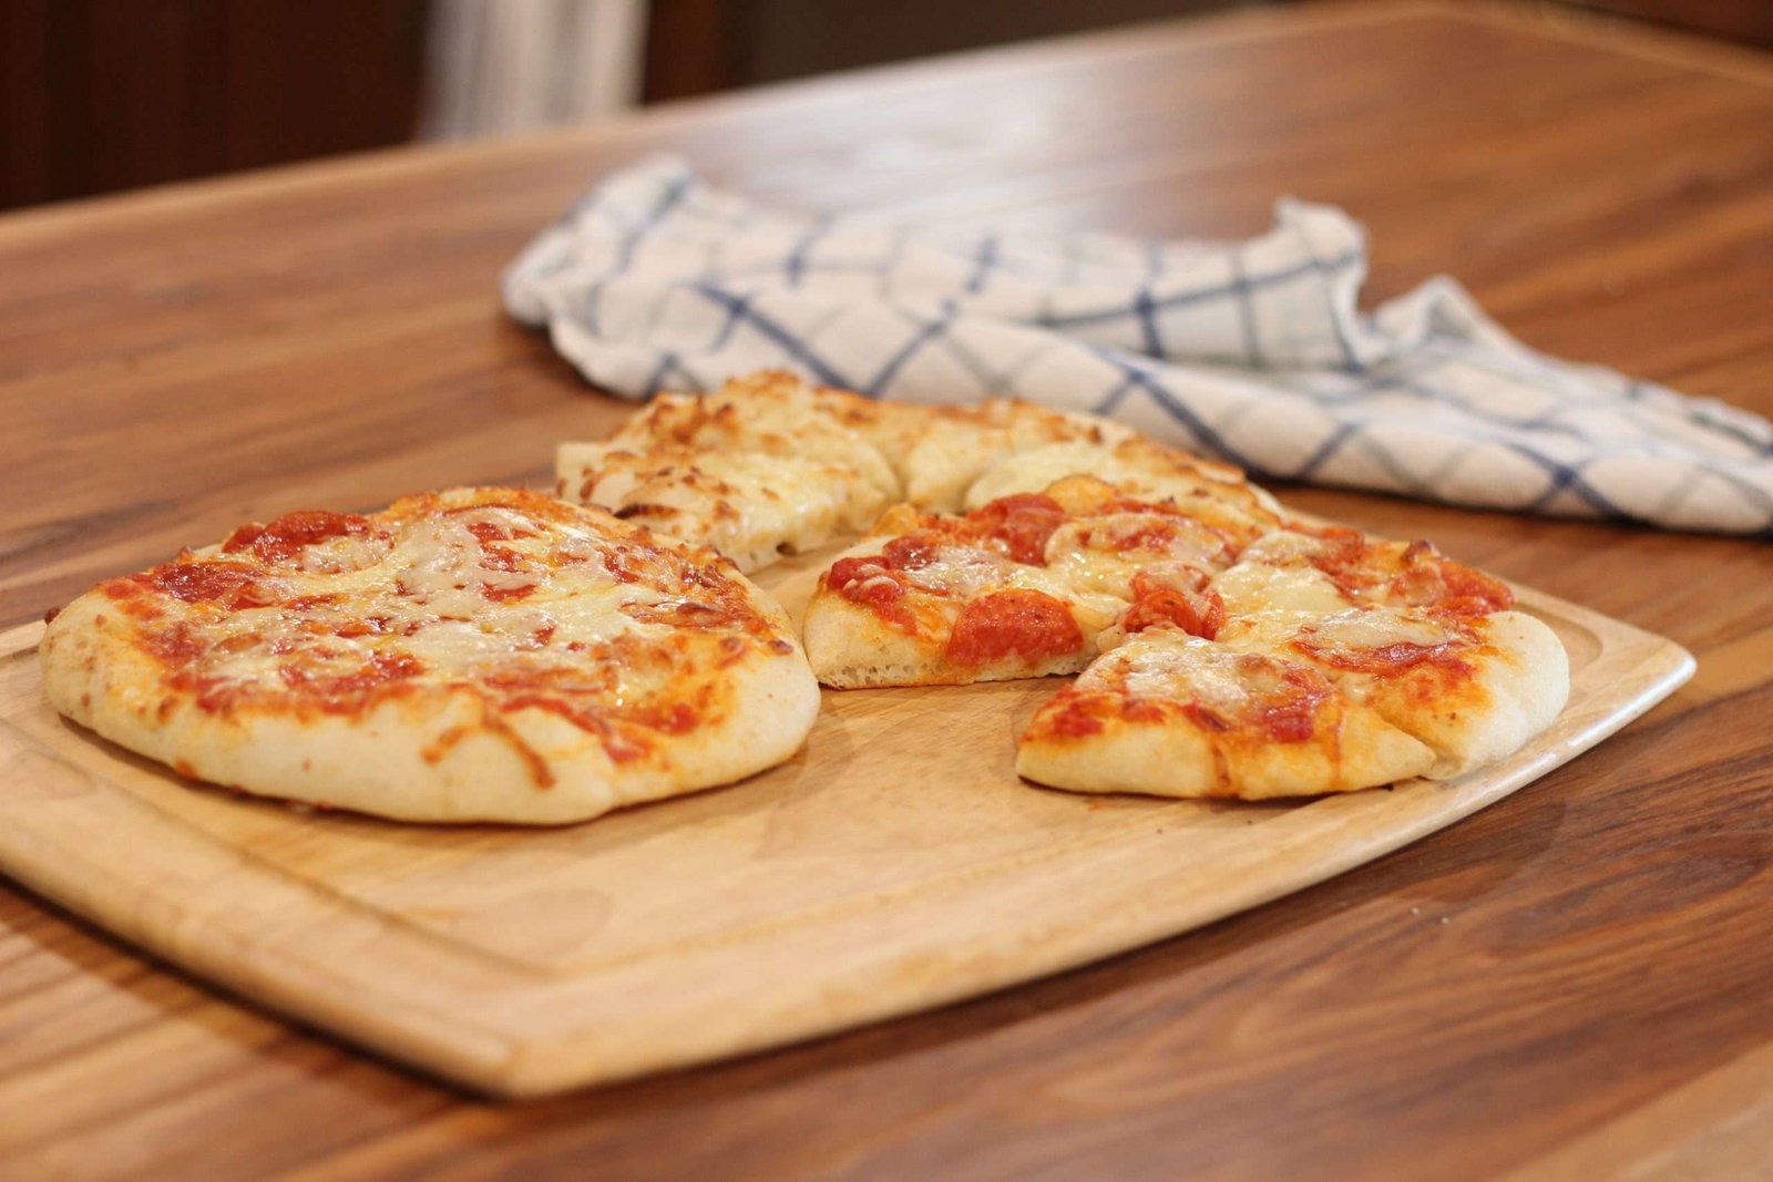
[[[420,135],[500,135],[633,106],[645,21],[645,0],[434,0]]]

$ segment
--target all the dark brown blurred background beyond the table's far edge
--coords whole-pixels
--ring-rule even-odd
[[[491,2],[491,0],[489,0]],[[1287,0],[649,0],[645,101]],[[1773,46],[1769,0],[1566,0]],[[0,0],[0,209],[402,144],[429,0]]]

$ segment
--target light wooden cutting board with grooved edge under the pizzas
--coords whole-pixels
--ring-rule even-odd
[[[794,599],[808,564],[759,581]],[[402,826],[181,780],[44,702],[0,634],[0,870],[124,939],[415,1067],[537,1095],[778,1046],[1186,932],[1433,833],[1691,675],[1677,645],[1521,592],[1569,707],[1496,767],[1301,805],[1030,787],[1058,682],[826,693],[732,789],[566,829]]]

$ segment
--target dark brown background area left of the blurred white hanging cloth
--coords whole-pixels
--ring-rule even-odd
[[[0,0],[0,207],[397,144],[426,0]]]

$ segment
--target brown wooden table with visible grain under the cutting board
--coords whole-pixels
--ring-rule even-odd
[[[1773,66],[1590,25],[1301,7],[569,135],[0,220],[0,624],[298,505],[537,478],[621,413],[495,280],[654,149],[810,209],[1250,234],[1282,193],[1528,342],[1773,411]],[[477,1102],[0,893],[0,1177],[1766,1177],[1773,548],[1293,491],[1665,633],[1697,679],[1527,792],[1002,996]],[[218,884],[225,890],[225,884]]]

